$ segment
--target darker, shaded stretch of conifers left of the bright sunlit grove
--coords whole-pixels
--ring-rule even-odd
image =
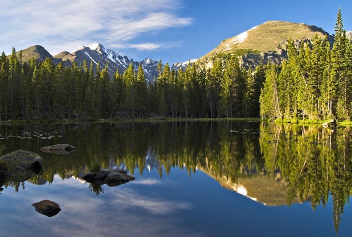
[[[0,120],[57,118],[258,116],[264,67],[241,68],[236,57],[212,69],[196,65],[170,70],[161,61],[154,83],[145,80],[142,66],[131,65],[113,78],[108,63],[94,69],[84,61],[71,67],[31,59],[21,51],[0,57]]]

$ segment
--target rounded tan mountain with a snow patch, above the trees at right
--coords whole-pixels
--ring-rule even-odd
[[[324,38],[326,35],[330,42],[333,41],[332,35],[316,26],[309,26],[303,23],[292,23],[285,21],[267,21],[263,24],[252,27],[234,37],[223,40],[215,49],[200,58],[200,63],[212,66],[212,60],[215,58],[227,58],[230,55],[242,56],[251,54],[252,61],[249,63],[255,66],[262,60],[266,63],[266,54],[272,54],[270,58],[280,62],[281,58],[286,57],[286,45],[289,39],[295,42],[309,41],[315,35]],[[286,56],[285,56],[286,55]],[[244,61],[247,59],[244,59]],[[248,58],[249,60],[249,58]],[[246,66],[249,66],[246,65]]]

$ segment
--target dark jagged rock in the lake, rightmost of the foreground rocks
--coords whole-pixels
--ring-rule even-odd
[[[96,173],[87,173],[83,179],[90,183],[107,184],[112,187],[135,180],[135,177],[128,175],[123,169],[102,169]]]

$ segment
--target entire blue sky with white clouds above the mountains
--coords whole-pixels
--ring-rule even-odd
[[[181,62],[269,20],[305,23],[333,33],[341,7],[352,30],[349,1],[13,0],[1,1],[0,50],[42,45],[51,54],[101,43],[134,60]]]

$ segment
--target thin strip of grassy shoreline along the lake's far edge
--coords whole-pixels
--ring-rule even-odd
[[[77,124],[77,123],[152,123],[152,122],[225,122],[225,121],[245,121],[245,122],[270,122],[282,125],[298,125],[298,126],[322,126],[329,120],[300,120],[300,119],[281,119],[271,120],[269,118],[260,117],[217,117],[217,118],[179,118],[179,117],[140,117],[140,118],[118,118],[95,120],[9,120],[0,121],[0,125],[31,125],[31,124]],[[352,121],[336,121],[337,127],[352,127]]]

